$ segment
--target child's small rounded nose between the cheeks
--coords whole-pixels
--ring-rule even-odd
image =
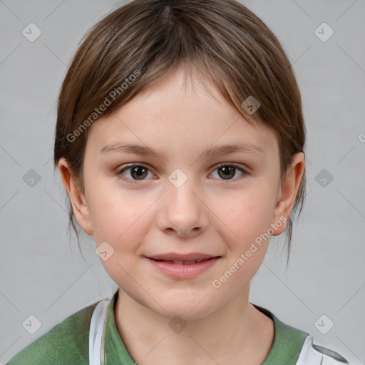
[[[160,201],[158,227],[168,235],[193,238],[209,225],[209,209],[201,190],[187,179],[177,187],[167,181],[166,192]]]

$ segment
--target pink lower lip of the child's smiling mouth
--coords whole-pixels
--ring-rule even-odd
[[[153,264],[156,269],[160,272],[169,275],[170,277],[176,277],[178,279],[185,279],[187,277],[196,277],[197,275],[205,272],[205,270],[212,267],[215,262],[217,262],[220,257],[212,257],[202,262],[197,262],[195,264],[173,264],[166,261],[156,261],[155,259],[150,259],[147,257],[148,261]]]

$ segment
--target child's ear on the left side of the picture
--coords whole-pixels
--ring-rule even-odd
[[[70,197],[73,214],[78,224],[81,225],[86,234],[93,235],[93,227],[91,225],[86,197],[80,191],[81,189],[78,187],[70,168],[68,168],[68,162],[65,158],[60,158],[58,161],[58,170],[61,174],[63,185],[67,190],[68,197]]]

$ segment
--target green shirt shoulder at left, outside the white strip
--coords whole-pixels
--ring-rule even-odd
[[[96,304],[63,319],[19,351],[6,365],[88,364],[88,334]]]

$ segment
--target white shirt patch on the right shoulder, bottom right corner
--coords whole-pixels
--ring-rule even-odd
[[[307,336],[297,365],[344,365],[349,364],[340,354],[322,346],[313,336]]]

